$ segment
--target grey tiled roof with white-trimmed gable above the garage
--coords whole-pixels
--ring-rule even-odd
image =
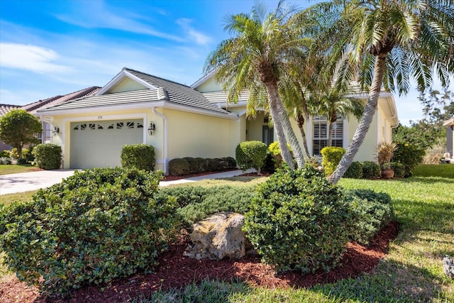
[[[109,89],[115,87],[116,84],[120,83],[125,77],[142,84],[146,89],[110,93]],[[38,112],[49,114],[50,112],[61,113],[64,111],[93,111],[95,108],[106,109],[109,106],[114,106],[115,109],[128,106],[134,106],[135,108],[138,106],[148,108],[159,106],[181,111],[196,112],[199,114],[223,116],[226,118],[237,117],[225,109],[221,109],[221,107],[211,104],[203,94],[187,85],[126,67],[124,67],[116,77],[111,79],[108,84],[99,89],[94,96],[74,99],[63,104],[57,104],[48,109],[40,109]]]

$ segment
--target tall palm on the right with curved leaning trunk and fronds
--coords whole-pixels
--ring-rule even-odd
[[[436,73],[448,86],[454,73],[453,0],[331,0],[302,14],[320,21],[317,41],[331,43],[326,64],[331,75],[340,71],[369,92],[352,142],[329,178],[337,183],[364,141],[382,85],[404,94],[410,79],[427,88]]]

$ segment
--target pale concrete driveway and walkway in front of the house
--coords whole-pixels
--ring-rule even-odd
[[[250,171],[254,170],[247,170],[246,172]],[[170,184],[182,184],[204,179],[222,179],[235,177],[242,175],[243,173],[245,173],[243,170],[231,170],[230,172],[218,172],[216,174],[190,177],[174,181],[161,181],[160,185],[167,186]],[[21,172],[11,175],[0,175],[0,195],[12,194],[15,192],[27,192],[29,190],[50,187],[53,184],[62,182],[62,179],[70,177],[73,174],[74,170],[39,170],[37,172]]]

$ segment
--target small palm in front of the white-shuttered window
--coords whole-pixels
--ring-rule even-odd
[[[333,145],[333,126],[338,116],[349,119],[350,115],[353,115],[359,121],[362,111],[364,111],[364,104],[359,99],[345,97],[334,88],[321,96],[312,94],[310,99],[311,114],[313,116],[326,116],[326,123],[328,124],[327,146]]]

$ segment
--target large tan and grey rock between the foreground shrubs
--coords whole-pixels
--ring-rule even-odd
[[[184,252],[189,258],[221,260],[243,258],[248,245],[241,230],[244,216],[233,212],[221,212],[193,225],[193,245]]]

